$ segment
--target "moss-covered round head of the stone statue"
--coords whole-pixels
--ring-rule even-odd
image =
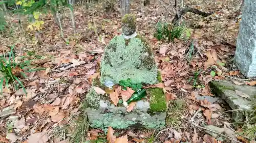
[[[135,15],[125,14],[122,18],[122,31],[126,36],[132,35],[136,31]]]

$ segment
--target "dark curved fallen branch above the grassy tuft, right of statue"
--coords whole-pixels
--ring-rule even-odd
[[[181,16],[184,15],[185,13],[187,13],[187,12],[192,12],[192,13],[201,15],[201,16],[203,16],[203,17],[207,17],[207,16],[209,16],[209,15],[214,14],[214,12],[202,12],[202,11],[196,9],[196,8],[189,8],[189,7],[188,7],[188,8],[183,9],[182,11],[179,11],[178,13],[176,13],[176,15],[175,15],[175,17],[174,17],[172,23],[173,23],[173,24],[176,24],[177,21],[181,18]]]

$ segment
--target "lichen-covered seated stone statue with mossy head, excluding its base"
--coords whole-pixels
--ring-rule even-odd
[[[136,18],[126,14],[122,18],[123,34],[113,38],[105,47],[101,60],[100,81],[112,79],[119,83],[131,78],[134,83],[156,83],[157,67],[150,45],[136,34]]]

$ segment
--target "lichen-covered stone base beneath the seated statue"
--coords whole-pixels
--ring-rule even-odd
[[[147,90],[147,92],[151,91]],[[156,129],[165,126],[165,97],[158,97],[163,102],[156,105],[156,102],[154,102],[156,96],[152,93],[148,93],[147,98],[138,101],[134,109],[127,112],[126,107],[122,105],[115,106],[111,103],[108,95],[98,95],[93,89],[90,89],[86,97],[86,112],[91,127],[101,129],[106,129],[109,126],[115,129]],[[150,99],[150,101],[147,99]]]

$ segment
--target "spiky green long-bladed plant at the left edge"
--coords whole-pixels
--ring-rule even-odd
[[[23,82],[20,80],[21,77],[26,77],[25,72],[33,72],[42,70],[41,68],[33,68],[31,66],[31,60],[25,60],[22,62],[16,62],[14,53],[14,46],[11,46],[8,58],[4,55],[0,58],[0,91],[3,92],[4,85],[8,87],[9,84],[14,85],[14,88],[17,90],[20,87],[25,91]],[[25,56],[20,57],[23,60]]]

